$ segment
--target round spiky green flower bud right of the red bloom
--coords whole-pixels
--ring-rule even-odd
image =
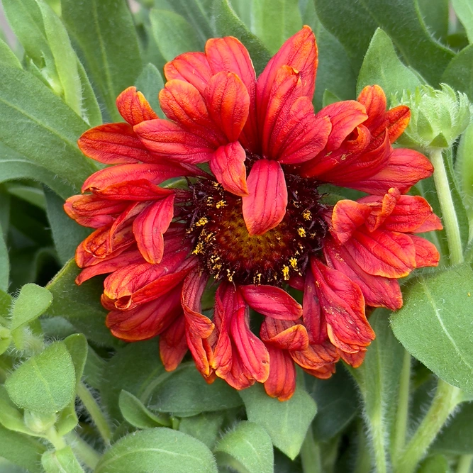
[[[423,152],[450,148],[467,128],[470,121],[468,97],[447,84],[440,87],[437,90],[424,85],[413,93],[404,91],[401,100],[394,98],[397,102],[394,105],[411,108],[411,121],[397,141],[399,144]]]

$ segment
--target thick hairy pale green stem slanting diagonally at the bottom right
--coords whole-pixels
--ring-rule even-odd
[[[422,460],[428,447],[460,401],[462,401],[460,389],[439,379],[428,413],[425,414],[421,425],[397,462],[397,472],[413,473],[416,470],[418,462]]]

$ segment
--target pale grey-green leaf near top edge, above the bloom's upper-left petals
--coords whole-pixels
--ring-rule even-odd
[[[152,34],[165,60],[171,61],[183,52],[204,49],[204,43],[183,16],[173,11],[152,9],[150,20]],[[186,33],[182,34],[183,31]]]

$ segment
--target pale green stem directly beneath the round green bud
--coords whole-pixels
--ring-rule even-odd
[[[458,224],[457,213],[453,205],[450,184],[448,183],[447,171],[443,162],[442,150],[434,148],[430,150],[430,161],[433,164],[433,180],[437,189],[438,201],[442,210],[443,224],[447,234],[448,250],[450,252],[450,262],[458,265],[463,262],[462,238],[460,237],[460,226]]]

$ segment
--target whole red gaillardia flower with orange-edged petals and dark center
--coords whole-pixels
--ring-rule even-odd
[[[189,349],[208,382],[260,382],[289,399],[295,364],[319,378],[340,358],[359,366],[374,339],[366,306],[401,307],[398,279],[438,264],[416,234],[440,219],[405,195],[433,168],[391,146],[409,108],[386,111],[373,86],[314,113],[316,68],[307,26],[257,78],[239,40],[211,39],[165,66],[168,119],[130,87],[117,99],[125,122],[79,139],[85,155],[113,166],[65,204],[96,229],[77,248],[77,283],[108,273],[101,301],[111,333],[160,335],[168,370]],[[333,205],[321,184],[367,196]]]

